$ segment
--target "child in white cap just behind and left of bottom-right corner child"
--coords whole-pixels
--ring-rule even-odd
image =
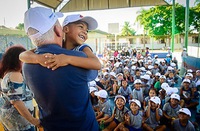
[[[172,94],[170,101],[165,103],[163,107],[163,122],[167,127],[171,127],[171,122],[178,118],[178,111],[181,109],[179,105],[180,96],[178,94]],[[171,129],[171,128],[170,128]]]

